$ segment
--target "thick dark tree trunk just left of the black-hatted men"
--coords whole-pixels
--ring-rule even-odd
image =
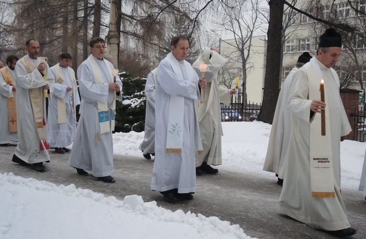
[[[258,117],[259,120],[266,123],[272,123],[278,99],[284,3],[285,0],[269,1],[264,97],[261,113]]]

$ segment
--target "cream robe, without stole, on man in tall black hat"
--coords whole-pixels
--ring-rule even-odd
[[[316,63],[319,64],[325,81],[327,95],[325,103],[329,109],[335,198],[313,198],[311,194],[309,128],[312,99],[308,99],[307,78],[309,74],[317,72],[316,66],[313,65]],[[320,80],[321,77],[319,86]],[[332,68],[325,67],[318,60],[315,63],[311,61],[306,63],[292,77],[288,107],[292,121],[291,145],[288,149],[284,185],[278,205],[279,211],[313,228],[329,231],[345,229],[350,225],[340,193],[340,138],[347,135],[351,131],[351,127],[339,94],[337,73]]]

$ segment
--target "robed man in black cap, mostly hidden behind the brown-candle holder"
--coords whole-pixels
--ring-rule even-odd
[[[263,170],[276,173],[276,177],[278,177],[277,184],[279,185],[283,184],[285,177],[284,171],[291,135],[291,112],[287,107],[287,100],[292,76],[300,67],[309,62],[310,59],[311,56],[308,52],[301,54],[296,62],[296,66],[292,68],[284,80],[284,84],[277,100]]]

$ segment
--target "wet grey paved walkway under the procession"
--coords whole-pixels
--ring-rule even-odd
[[[15,147],[0,147],[0,173],[12,172],[23,178],[46,180],[57,185],[75,184],[107,196],[123,199],[126,195],[141,195],[144,201],[157,201],[159,206],[175,211],[201,213],[206,217],[216,216],[221,220],[239,224],[251,237],[265,239],[328,239],[328,234],[310,228],[294,219],[280,215],[277,201],[281,187],[261,175],[248,175],[221,170],[217,175],[197,177],[197,189],[192,201],[171,204],[163,201],[158,192],[150,190],[153,161],[139,157],[115,156],[116,183],[108,184],[92,176],[82,177],[68,166],[70,153],[56,154],[50,150],[51,162],[44,163],[47,171],[36,172],[33,167],[24,167],[11,162]],[[352,227],[358,229],[355,236],[366,238],[366,200],[359,191],[343,190],[347,216]]]

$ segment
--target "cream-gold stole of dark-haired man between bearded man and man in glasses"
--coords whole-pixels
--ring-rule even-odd
[[[76,106],[75,106],[75,94],[76,94],[76,80],[75,80],[75,74],[71,70],[70,67],[67,67],[70,79],[72,81],[72,96],[73,96],[73,107],[74,112],[76,112]],[[56,75],[56,82],[65,85],[65,77],[63,75],[63,72],[60,69],[60,64],[57,64],[55,66],[55,75]],[[66,123],[66,101],[65,99],[57,98],[57,117],[58,117],[58,123]]]

